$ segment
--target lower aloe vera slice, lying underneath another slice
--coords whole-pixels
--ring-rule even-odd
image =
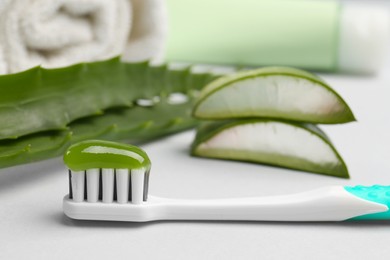
[[[311,124],[268,119],[205,123],[199,128],[191,153],[349,177],[329,139]]]

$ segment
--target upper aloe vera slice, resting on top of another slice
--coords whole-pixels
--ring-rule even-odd
[[[308,72],[267,67],[237,72],[208,84],[193,115],[200,119],[267,117],[336,124],[355,120],[346,102]]]

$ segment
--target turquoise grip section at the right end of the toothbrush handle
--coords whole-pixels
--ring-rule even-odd
[[[385,205],[388,210],[385,212],[372,213],[354,217],[350,220],[390,220],[390,186],[346,186],[344,187],[349,193],[372,202]]]

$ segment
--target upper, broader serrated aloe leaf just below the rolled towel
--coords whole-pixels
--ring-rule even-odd
[[[123,63],[119,58],[2,75],[0,140],[65,129],[78,118],[131,106],[137,99],[189,94],[202,88],[200,83],[191,80],[188,66],[171,70],[148,62]]]

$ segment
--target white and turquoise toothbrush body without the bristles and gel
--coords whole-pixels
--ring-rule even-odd
[[[63,207],[74,219],[134,222],[390,220],[390,186],[335,186],[292,195],[214,200],[149,196],[142,204],[77,202],[65,196]]]

